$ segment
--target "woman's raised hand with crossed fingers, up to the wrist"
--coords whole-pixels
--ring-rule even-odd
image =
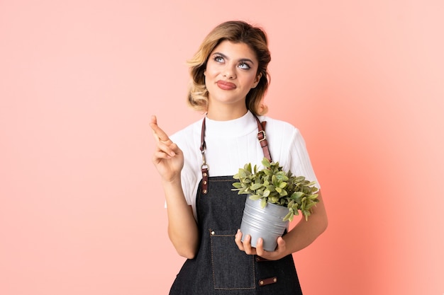
[[[180,171],[184,166],[184,154],[177,144],[157,125],[156,116],[151,117],[150,127],[157,142],[152,156],[152,163],[163,180],[171,182],[180,180]]]

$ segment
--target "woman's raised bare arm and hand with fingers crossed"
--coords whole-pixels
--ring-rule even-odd
[[[162,178],[168,213],[168,236],[179,255],[192,259],[199,247],[199,231],[194,220],[192,207],[182,190],[181,171],[184,154],[167,134],[157,125],[152,116],[150,127],[157,141],[152,163]]]

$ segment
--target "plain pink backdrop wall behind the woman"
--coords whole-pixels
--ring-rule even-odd
[[[186,107],[214,25],[270,36],[269,115],[301,129],[330,225],[305,294],[444,294],[444,2],[0,1],[0,294],[167,294],[150,115]]]

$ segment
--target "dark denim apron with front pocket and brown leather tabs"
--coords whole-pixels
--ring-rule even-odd
[[[265,260],[247,255],[235,244],[247,195],[231,190],[233,176],[206,181],[203,185],[201,180],[196,195],[199,250],[184,263],[170,295],[302,294],[292,255]]]

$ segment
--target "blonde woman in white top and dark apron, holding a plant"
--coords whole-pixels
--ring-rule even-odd
[[[171,138],[152,117],[153,163],[165,190],[168,234],[177,253],[188,258],[170,294],[301,294],[292,253],[326,229],[321,193],[309,221],[301,219],[268,252],[262,239],[256,248],[250,236],[241,241],[245,195],[231,191],[238,168],[260,164],[268,151],[285,170],[316,181],[298,129],[263,116],[269,62],[260,28],[221,23],[189,61],[189,104],[206,116]],[[257,121],[267,121],[268,150],[257,140]]]

